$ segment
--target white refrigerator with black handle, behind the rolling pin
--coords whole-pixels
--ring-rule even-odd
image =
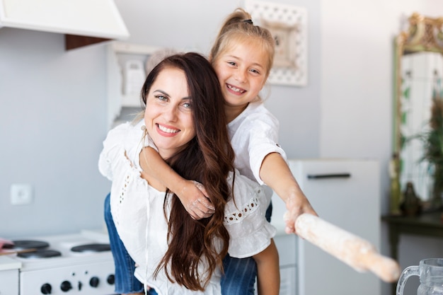
[[[318,216],[372,243],[380,250],[380,173],[372,159],[288,161],[292,174]],[[280,255],[280,295],[374,295],[381,281],[357,272],[296,235],[284,233],[284,202],[272,195],[272,221]]]

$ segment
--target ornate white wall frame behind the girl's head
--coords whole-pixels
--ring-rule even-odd
[[[274,66],[268,81],[287,86],[306,86],[308,42],[306,8],[267,1],[245,0],[245,9],[256,25],[275,38]]]

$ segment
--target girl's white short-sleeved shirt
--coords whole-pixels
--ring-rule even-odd
[[[260,168],[265,156],[278,153],[286,160],[278,144],[280,123],[261,101],[249,103],[240,115],[229,122],[228,131],[236,158],[234,167],[241,175],[263,185]]]

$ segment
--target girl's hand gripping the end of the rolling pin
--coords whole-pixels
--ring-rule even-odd
[[[284,231],[286,233],[296,233],[295,231],[295,221],[297,217],[304,213],[309,213],[318,216],[314,209],[311,207],[308,199],[304,195],[291,195],[286,200],[287,212],[284,213],[284,222],[286,227]]]

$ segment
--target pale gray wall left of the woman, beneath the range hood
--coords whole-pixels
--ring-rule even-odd
[[[63,35],[2,28],[0,77],[0,236],[101,226],[104,47],[65,52]],[[33,186],[32,204],[10,204],[13,183]]]

